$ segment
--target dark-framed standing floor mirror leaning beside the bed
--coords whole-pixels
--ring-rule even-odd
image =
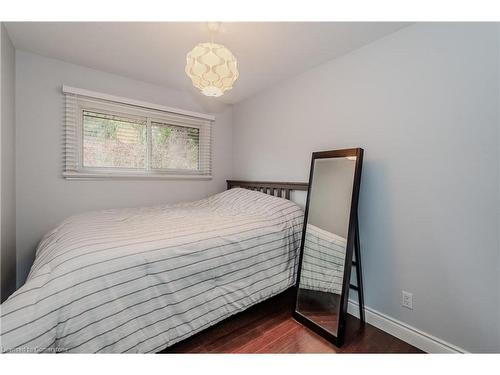
[[[311,160],[293,316],[337,346],[344,342],[351,290],[364,323],[358,224],[362,163],[361,148],[314,152]]]

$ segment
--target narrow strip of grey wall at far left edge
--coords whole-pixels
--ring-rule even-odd
[[[16,285],[16,181],[15,181],[15,50],[4,24],[1,34],[1,127],[0,127],[0,299]]]

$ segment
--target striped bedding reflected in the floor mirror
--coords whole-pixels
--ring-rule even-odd
[[[346,240],[307,224],[299,287],[341,294]]]

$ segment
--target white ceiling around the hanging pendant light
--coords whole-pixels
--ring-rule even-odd
[[[223,23],[215,41],[237,57],[240,77],[233,90],[214,100],[237,103],[407,25]],[[186,53],[209,39],[206,23],[194,22],[11,22],[6,26],[17,49],[178,90],[191,90],[184,73]]]

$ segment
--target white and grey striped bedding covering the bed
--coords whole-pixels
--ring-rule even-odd
[[[302,220],[244,189],[70,217],[1,305],[2,351],[159,351],[293,285]]]

